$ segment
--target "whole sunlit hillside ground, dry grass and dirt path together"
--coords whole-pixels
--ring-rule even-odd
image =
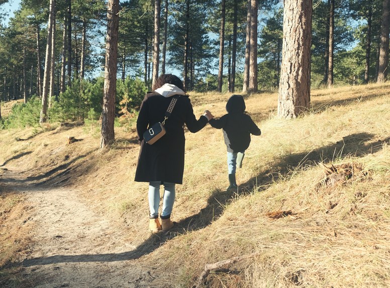
[[[0,284],[390,286],[389,90],[315,90],[311,112],[294,120],[275,116],[277,94],[246,97],[262,135],[237,192],[226,191],[222,131],[187,131],[167,235],[148,231],[134,126],[116,127],[103,151],[99,123],[0,130]],[[229,96],[191,95],[194,112],[222,116]]]

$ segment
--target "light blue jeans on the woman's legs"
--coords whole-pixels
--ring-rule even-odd
[[[158,209],[160,207],[160,185],[161,181],[151,181],[149,183],[148,198],[150,216],[158,216]],[[172,213],[175,195],[175,184],[171,182],[164,182],[161,216],[169,216]]]

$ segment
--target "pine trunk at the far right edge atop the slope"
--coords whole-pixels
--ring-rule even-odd
[[[377,82],[386,81],[388,64],[388,33],[390,25],[390,0],[383,0],[382,24],[380,27],[379,70]]]

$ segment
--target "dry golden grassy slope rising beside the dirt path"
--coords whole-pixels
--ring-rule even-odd
[[[128,231],[140,261],[163,270],[167,284],[189,286],[206,263],[254,253],[209,275],[207,285],[384,287],[390,285],[389,89],[316,90],[312,112],[294,120],[274,117],[276,94],[246,98],[263,134],[252,136],[237,172],[238,193],[225,190],[222,131],[208,125],[187,132],[184,183],[172,214],[178,229],[170,239],[147,231],[147,184],[133,181],[134,127],[117,128],[116,143],[105,151],[98,149],[96,126],[0,131],[0,147],[10,148],[0,152],[0,163],[16,158],[8,169],[23,167],[42,185],[77,187]],[[228,97],[191,96],[197,115],[207,108],[215,116],[225,113]],[[82,140],[67,145],[67,136]],[[358,163],[366,173],[326,187],[319,162]],[[278,210],[293,215],[265,215]]]

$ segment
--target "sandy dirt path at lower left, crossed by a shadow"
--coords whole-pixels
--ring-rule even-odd
[[[141,268],[129,236],[88,207],[76,190],[39,188],[11,171],[2,182],[34,207],[31,254],[21,263],[34,287],[162,286],[152,269]]]

